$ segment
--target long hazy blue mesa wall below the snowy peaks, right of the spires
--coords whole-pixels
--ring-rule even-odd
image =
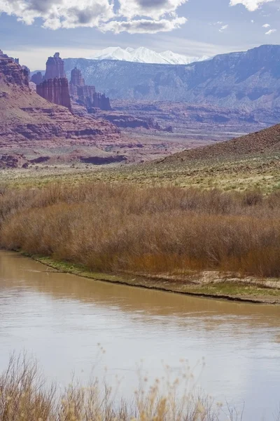
[[[189,65],[123,60],[64,60],[112,99],[169,100],[246,109],[280,107],[280,46],[216,55]]]

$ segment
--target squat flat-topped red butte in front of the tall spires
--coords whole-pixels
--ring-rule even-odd
[[[37,85],[36,92],[45,100],[63,105],[71,111],[69,84],[66,78],[45,80]]]

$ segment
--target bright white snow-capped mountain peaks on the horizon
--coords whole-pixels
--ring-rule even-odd
[[[128,62],[154,63],[162,65],[188,65],[192,62],[207,60],[209,57],[190,57],[173,53],[172,51],[164,51],[156,53],[145,47],[139,48],[120,48],[109,47],[105,50],[96,51],[90,58],[94,60],[124,60]]]

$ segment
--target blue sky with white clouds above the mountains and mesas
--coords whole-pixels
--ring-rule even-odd
[[[0,0],[0,48],[31,70],[109,46],[189,56],[280,44],[280,0]]]

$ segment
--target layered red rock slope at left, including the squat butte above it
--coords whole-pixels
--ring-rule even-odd
[[[68,89],[66,79],[45,81],[48,99],[57,100],[57,93]],[[57,91],[55,91],[55,88]],[[40,89],[40,87],[39,87]],[[68,91],[69,95],[69,91]],[[69,96],[64,98],[69,105]],[[66,147],[96,145],[97,142],[118,142],[119,129],[108,121],[73,116],[69,109],[52,104],[28,85],[25,69],[1,52],[0,56],[0,147]],[[33,149],[32,149],[33,150]],[[9,155],[9,154],[8,154]]]

